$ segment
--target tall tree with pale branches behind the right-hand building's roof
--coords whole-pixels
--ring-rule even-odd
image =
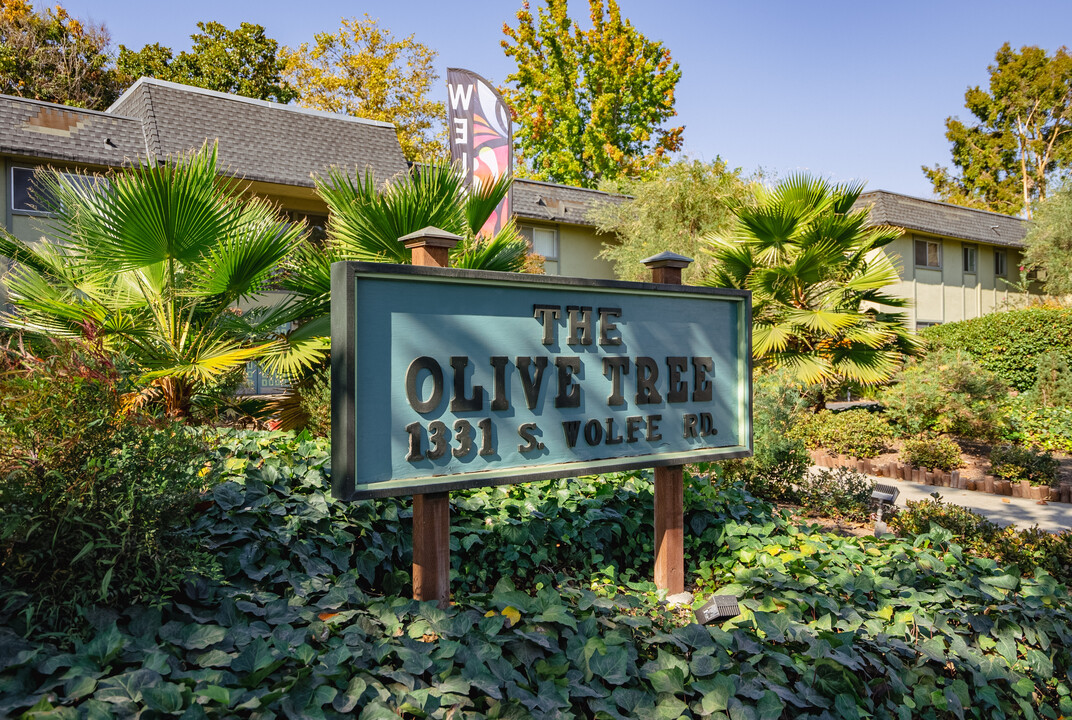
[[[1053,57],[1009,43],[987,68],[989,90],[968,88],[970,124],[946,119],[955,170],[935,165],[923,172],[943,200],[1008,214],[1031,215],[1051,181],[1072,163],[1072,56]]]

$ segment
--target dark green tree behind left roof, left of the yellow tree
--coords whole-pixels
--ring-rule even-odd
[[[178,57],[159,43],[138,51],[119,46],[119,72],[128,84],[143,75],[257,100],[289,103],[298,91],[283,79],[279,43],[259,25],[242,22],[228,30],[220,22],[198,22],[193,47]]]

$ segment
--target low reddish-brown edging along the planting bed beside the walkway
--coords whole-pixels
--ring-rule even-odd
[[[1072,502],[1072,483],[1068,481],[1062,481],[1058,488],[1049,488],[1048,485],[1031,485],[1026,480],[1022,482],[1000,480],[993,475],[987,475],[982,480],[968,480],[962,478],[958,470],[943,472],[941,470],[929,470],[924,467],[912,467],[905,463],[875,463],[870,460],[860,460],[859,458],[831,455],[822,449],[810,450],[808,454],[812,455],[812,462],[819,467],[849,467],[864,475],[920,482],[925,485],[935,485],[938,488],[971,490],[980,493],[1046,500],[1048,502]]]

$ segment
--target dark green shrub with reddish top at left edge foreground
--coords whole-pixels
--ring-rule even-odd
[[[211,569],[177,529],[208,481],[192,431],[122,416],[110,365],[85,348],[6,365],[0,614],[25,629],[78,627],[86,608],[161,602]]]

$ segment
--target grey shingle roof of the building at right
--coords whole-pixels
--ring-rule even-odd
[[[864,193],[854,208],[872,207],[875,225],[893,225],[947,238],[1023,248],[1027,221],[986,210],[925,200],[884,190]]]

